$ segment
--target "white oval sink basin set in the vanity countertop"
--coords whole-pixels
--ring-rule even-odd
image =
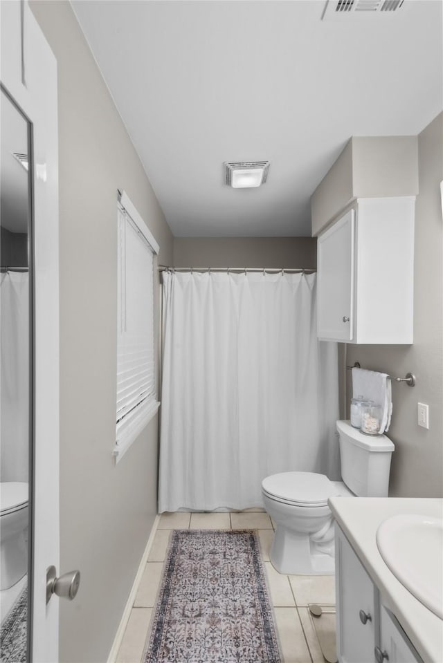
[[[377,530],[377,547],[401,584],[443,619],[443,521],[392,516]]]

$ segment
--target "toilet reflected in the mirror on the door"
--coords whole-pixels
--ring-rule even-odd
[[[0,483],[0,589],[9,589],[28,570],[28,484]]]

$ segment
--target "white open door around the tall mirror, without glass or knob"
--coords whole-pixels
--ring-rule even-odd
[[[30,123],[33,162],[33,494],[30,614],[33,662],[58,660],[58,600],[46,569],[59,565],[59,297],[57,63],[24,2],[1,2],[1,85]]]

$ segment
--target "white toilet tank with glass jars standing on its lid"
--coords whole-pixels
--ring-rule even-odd
[[[390,459],[395,447],[386,435],[365,435],[349,421],[336,422],[341,477],[359,497],[387,497]]]

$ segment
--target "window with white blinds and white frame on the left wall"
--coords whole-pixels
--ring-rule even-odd
[[[123,192],[118,203],[116,462],[159,409],[154,353],[154,255],[159,245]]]

